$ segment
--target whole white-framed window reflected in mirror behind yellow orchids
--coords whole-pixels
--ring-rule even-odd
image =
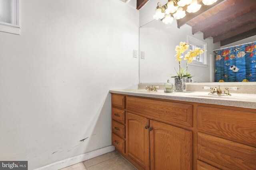
[[[193,63],[190,63],[190,65],[194,66],[202,66],[207,67],[207,43],[204,41],[201,41],[199,39],[196,39],[194,37],[191,37],[188,35],[188,43],[189,43],[189,49],[194,50],[195,48],[200,48],[204,50],[204,53],[194,57]]]

